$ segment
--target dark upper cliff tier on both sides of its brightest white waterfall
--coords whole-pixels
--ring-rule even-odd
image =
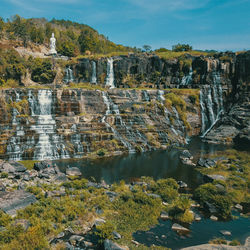
[[[222,60],[220,59],[222,58]],[[131,54],[113,57],[114,84],[118,88],[129,87],[196,87],[213,84],[220,76],[221,83],[232,87],[235,73],[235,54],[218,54],[216,57],[186,55],[179,59],[164,59],[157,55]],[[109,61],[81,59],[74,66],[77,82],[93,82],[105,86],[109,74]],[[188,86],[187,86],[188,85]]]

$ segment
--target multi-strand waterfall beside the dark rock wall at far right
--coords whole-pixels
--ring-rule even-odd
[[[201,88],[200,106],[202,121],[201,137],[203,138],[219,121],[223,112],[223,91],[218,74],[214,73],[213,75],[213,85]]]

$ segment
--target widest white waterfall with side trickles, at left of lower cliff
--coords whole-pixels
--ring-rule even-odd
[[[21,101],[18,95],[17,100]],[[63,144],[63,138],[56,134],[56,122],[52,115],[52,91],[41,89],[38,90],[37,95],[34,95],[29,90],[28,103],[31,118],[36,121],[36,124],[28,126],[29,123],[27,122],[26,130],[24,131],[19,118],[17,118],[19,113],[16,109],[13,109],[12,126],[15,126],[16,132],[7,145],[9,160],[23,160],[26,157],[26,153],[31,151],[33,151],[34,160],[69,158],[69,154]],[[34,132],[38,135],[36,139]]]

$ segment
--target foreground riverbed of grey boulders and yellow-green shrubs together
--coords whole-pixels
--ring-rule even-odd
[[[154,181],[143,177],[127,184],[121,181],[108,185],[81,178],[81,172],[75,167],[68,167],[62,173],[50,161],[37,162],[29,169],[20,163],[1,161],[0,208],[4,213],[1,212],[0,216],[0,244],[5,247],[14,242],[17,244],[16,240],[24,236],[34,237],[35,230],[39,244],[52,249],[59,246],[66,249],[145,249],[143,242],[133,239],[132,233],[148,230],[157,225],[158,219],[172,221],[171,230],[181,235],[190,231],[187,222],[199,223],[204,212],[211,215],[211,220],[214,217],[221,220],[223,210],[217,201],[211,198],[199,200],[199,192],[208,188],[206,192],[210,195],[209,189],[212,188],[218,198],[232,193],[231,188],[236,182],[230,184],[232,187],[225,185],[231,177],[221,175],[221,170],[219,175],[215,170],[221,161],[232,166],[237,160],[228,155],[196,162],[188,151],[183,151],[180,157],[184,162],[186,158],[195,162],[201,172],[202,169],[213,170],[213,174],[204,173],[210,178],[204,180],[212,186],[204,184],[198,187],[192,197],[184,182],[177,183],[173,179]],[[241,155],[241,159],[237,164],[246,171],[243,164],[246,158]],[[193,166],[187,164],[187,167]],[[247,212],[246,203],[242,200],[240,205],[237,201],[240,202],[234,200],[232,203],[235,209]],[[10,237],[10,230],[16,230],[17,226],[21,231]],[[39,231],[41,227],[49,233]]]

